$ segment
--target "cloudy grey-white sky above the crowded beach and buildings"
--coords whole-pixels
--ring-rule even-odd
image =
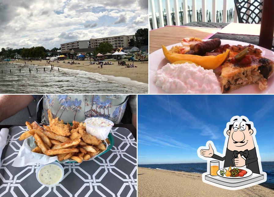
[[[147,0],[0,0],[0,50],[116,35],[148,27]]]

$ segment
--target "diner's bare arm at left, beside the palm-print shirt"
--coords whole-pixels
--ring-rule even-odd
[[[0,122],[24,109],[33,100],[31,95],[0,95]]]

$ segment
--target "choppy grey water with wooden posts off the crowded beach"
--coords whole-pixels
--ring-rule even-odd
[[[148,93],[148,84],[131,81],[124,77],[104,76],[65,68],[60,68],[58,71],[57,67],[50,70],[50,66],[26,65],[24,67],[23,64],[2,63],[0,64],[0,93]]]

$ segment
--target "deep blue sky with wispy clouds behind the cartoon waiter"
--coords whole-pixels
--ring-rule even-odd
[[[254,123],[261,161],[274,161],[274,95],[138,95],[138,164],[206,162],[212,140],[223,153],[224,129],[235,115]]]

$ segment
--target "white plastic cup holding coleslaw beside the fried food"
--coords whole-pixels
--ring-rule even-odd
[[[95,136],[99,140],[105,140],[106,138],[108,138],[109,132],[110,132],[111,128],[113,127],[114,123],[108,119],[100,118],[100,119],[104,119],[104,120],[108,121],[109,123],[111,123],[112,126],[108,126],[108,127],[93,126],[93,125],[87,123],[90,119],[92,119],[92,118],[88,118],[85,120],[86,132]]]

